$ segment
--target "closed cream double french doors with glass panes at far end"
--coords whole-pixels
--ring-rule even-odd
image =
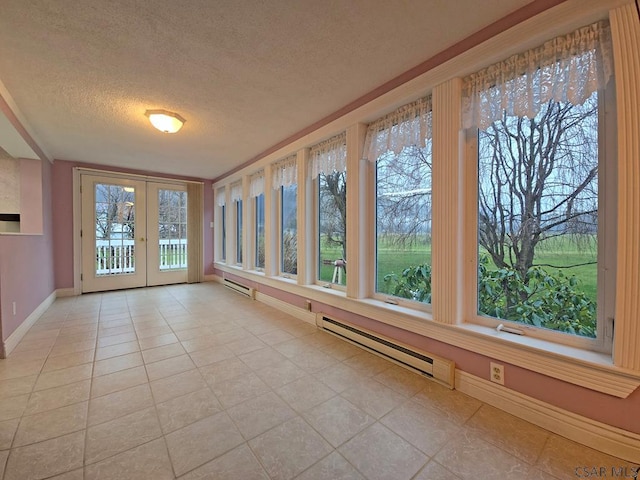
[[[180,184],[81,175],[82,291],[187,281],[187,192]]]

